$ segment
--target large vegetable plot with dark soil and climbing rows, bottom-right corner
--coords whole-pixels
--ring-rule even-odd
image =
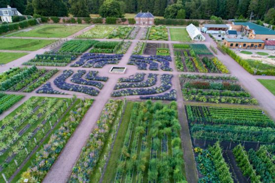
[[[199,182],[275,182],[275,123],[262,110],[185,109]]]

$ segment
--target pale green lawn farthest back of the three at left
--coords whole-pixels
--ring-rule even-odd
[[[11,34],[10,36],[20,36],[20,37],[68,37],[69,35],[78,32],[88,25],[43,25],[38,26],[30,31],[19,31],[17,33]]]

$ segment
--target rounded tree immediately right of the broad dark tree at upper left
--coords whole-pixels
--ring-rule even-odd
[[[70,13],[75,17],[90,17],[87,0],[69,0]]]

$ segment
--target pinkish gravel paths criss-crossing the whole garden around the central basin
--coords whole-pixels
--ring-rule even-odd
[[[84,31],[87,31],[91,28],[93,28],[94,25],[89,26],[83,30],[80,30],[72,35],[70,35],[67,38],[62,38],[63,40],[71,40],[76,39],[75,37],[77,35],[82,34]],[[181,124],[181,139],[182,139],[182,145],[184,149],[184,161],[185,161],[185,169],[186,169],[186,178],[187,181],[190,183],[197,182],[197,170],[195,166],[195,160],[194,160],[194,154],[192,150],[192,143],[191,143],[191,137],[189,133],[188,128],[188,122],[185,116],[185,109],[184,109],[184,100],[182,97],[182,91],[179,84],[179,75],[183,74],[183,72],[178,72],[176,70],[175,64],[174,64],[174,54],[172,49],[173,43],[182,43],[180,41],[171,41],[170,34],[169,34],[169,40],[168,41],[153,41],[153,40],[147,40],[147,43],[167,43],[169,44],[170,48],[170,54],[172,57],[172,62],[170,64],[170,67],[172,67],[173,71],[163,71],[163,70],[138,70],[138,67],[135,65],[128,65],[128,61],[132,55],[132,52],[134,51],[135,46],[137,43],[141,40],[139,40],[139,37],[141,36],[143,28],[141,28],[138,31],[138,34],[134,40],[125,40],[125,41],[131,41],[132,44],[129,47],[126,54],[123,55],[122,59],[118,62],[115,66],[123,66],[127,67],[126,73],[121,74],[111,74],[109,73],[109,70],[113,65],[105,65],[103,68],[84,68],[84,67],[70,67],[69,65],[65,67],[53,67],[53,66],[37,66],[37,68],[46,68],[46,69],[53,69],[58,68],[58,72],[51,77],[51,79],[48,80],[48,82],[51,83],[51,86],[54,90],[63,91],[59,88],[57,88],[53,81],[64,71],[64,70],[73,70],[74,73],[77,70],[86,70],[88,71],[99,71],[100,76],[106,76],[109,79],[104,83],[103,88],[99,92],[97,96],[91,96],[85,93],[80,92],[74,92],[74,91],[64,91],[68,95],[59,95],[59,94],[43,94],[43,93],[36,93],[35,91],[32,91],[30,93],[25,92],[12,92],[12,91],[6,91],[5,93],[10,94],[24,94],[25,97],[17,102],[14,106],[12,106],[7,111],[3,112],[0,115],[0,120],[3,119],[5,116],[7,116],[9,113],[11,113],[13,110],[15,110],[17,107],[19,107],[22,103],[27,101],[32,96],[49,96],[49,97],[65,97],[69,98],[72,97],[73,94],[76,94],[79,98],[94,98],[94,102],[90,109],[85,114],[82,122],[79,123],[78,127],[72,134],[72,136],[69,138],[68,143],[66,144],[65,148],[60,153],[58,159],[55,161],[53,166],[51,167],[50,171],[46,175],[45,179],[43,180],[44,183],[66,183],[69,179],[69,176],[71,174],[72,167],[74,166],[75,162],[77,161],[79,154],[84,147],[84,145],[87,142],[87,139],[89,138],[89,134],[92,132],[92,130],[96,127],[97,121],[100,118],[100,115],[102,113],[103,107],[105,103],[112,98],[111,93],[113,91],[113,88],[115,87],[117,81],[121,77],[129,77],[131,75],[134,75],[138,72],[144,72],[146,74],[148,73],[156,73],[159,75],[162,74],[172,74],[172,88],[176,91],[177,95],[177,105],[178,105],[178,114],[179,114],[179,122]],[[214,45],[216,47],[216,44],[213,42],[213,40],[206,34],[204,34],[206,37],[206,41],[203,42],[208,48],[210,45]],[[21,38],[21,37],[8,37],[8,38]],[[24,37],[22,37],[24,38]],[[30,37],[28,37],[30,38]],[[40,38],[39,38],[40,39]],[[55,38],[43,38],[43,39],[55,39]],[[59,39],[59,38],[56,38]],[[96,39],[100,41],[121,41],[120,39]],[[145,41],[144,41],[145,42]],[[194,44],[201,44],[201,42],[194,42]],[[26,55],[20,59],[17,59],[15,61],[11,61],[3,66],[0,67],[0,72],[3,72],[5,70],[8,70],[10,67],[23,67],[23,63],[26,61],[29,61],[30,59],[33,59],[35,55],[37,54],[43,54],[46,51],[50,51],[52,48],[50,46],[47,46],[45,48],[39,49],[37,51],[29,52],[29,55]],[[210,50],[210,49],[209,49]],[[88,50],[89,51],[89,50]],[[87,52],[88,52],[87,51]],[[215,55],[220,61],[222,61],[227,68],[230,70],[231,75],[236,76],[242,87],[245,88],[247,91],[251,93],[251,95],[256,98],[259,101],[259,105],[261,108],[263,108],[273,119],[275,119],[275,96],[268,91],[264,86],[260,84],[260,82],[257,81],[257,78],[261,79],[275,79],[271,76],[252,76],[248,72],[246,72],[241,65],[239,65],[236,61],[234,61],[231,57],[228,55],[223,55],[219,50],[218,54]],[[75,61],[71,63],[75,63],[78,61],[76,59]],[[186,73],[185,74],[194,74],[194,73]],[[214,74],[214,73],[196,73],[196,74],[204,74],[204,75],[223,75],[223,74]],[[70,82],[71,76],[66,79],[67,83]],[[158,83],[159,85],[159,83]],[[115,97],[115,98],[124,98],[124,97]],[[129,100],[137,100],[139,101],[139,96],[126,96]]]

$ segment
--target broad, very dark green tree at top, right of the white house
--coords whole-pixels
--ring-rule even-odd
[[[68,8],[63,0],[33,0],[34,13],[42,16],[68,15]]]

